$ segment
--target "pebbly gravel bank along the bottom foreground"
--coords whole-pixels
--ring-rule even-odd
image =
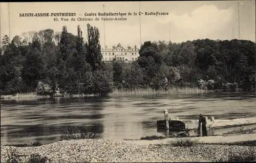
[[[174,143],[177,139],[173,138],[173,143],[168,144],[136,144],[113,139],[79,139],[39,147],[1,146],[1,162],[8,159],[8,150],[9,154],[10,151],[16,151],[16,154],[23,155],[20,159],[24,162],[28,161],[32,153],[46,156],[51,162],[230,161],[231,156],[252,159],[251,157],[256,155],[256,147],[200,143],[182,145]],[[141,142],[152,143],[152,141]]]

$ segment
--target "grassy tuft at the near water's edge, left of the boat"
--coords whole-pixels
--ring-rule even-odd
[[[78,129],[78,128],[77,128]],[[94,138],[96,136],[96,133],[94,132],[88,132],[86,128],[78,129],[79,134],[76,134],[74,130],[71,128],[66,128],[64,132],[60,135],[60,141],[68,141],[71,139],[89,139]]]

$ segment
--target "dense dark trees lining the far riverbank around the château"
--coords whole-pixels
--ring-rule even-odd
[[[255,43],[248,40],[198,39],[182,43],[141,45],[133,63],[103,63],[99,31],[87,25],[84,42],[77,35],[51,29],[24,33],[1,47],[1,94],[48,94],[56,88],[68,94],[106,95],[113,88],[200,87],[207,90],[255,89]]]

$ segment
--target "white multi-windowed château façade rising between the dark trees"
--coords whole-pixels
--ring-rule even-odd
[[[123,48],[123,46],[118,43],[117,46],[113,46],[111,49],[105,47],[101,48],[102,54],[102,61],[103,62],[111,62],[114,59],[117,61],[123,62],[132,62],[138,59],[139,55],[139,48],[134,46],[134,48],[127,47]]]

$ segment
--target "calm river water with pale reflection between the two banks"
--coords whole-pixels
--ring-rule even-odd
[[[256,115],[252,94],[200,94],[122,98],[1,100],[1,145],[59,140],[66,127],[87,127],[101,138],[162,135],[163,110],[180,119],[200,113],[219,118]]]

